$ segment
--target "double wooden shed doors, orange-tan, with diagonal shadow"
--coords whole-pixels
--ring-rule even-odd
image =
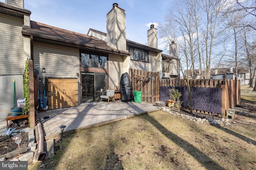
[[[78,106],[77,79],[48,79],[48,108]]]

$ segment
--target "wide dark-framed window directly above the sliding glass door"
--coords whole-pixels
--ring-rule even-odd
[[[81,53],[81,66],[107,68],[107,57],[102,55]]]

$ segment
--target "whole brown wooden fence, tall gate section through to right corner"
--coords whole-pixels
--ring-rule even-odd
[[[129,76],[134,91],[142,92],[142,101],[154,103],[160,101],[160,86],[186,87],[184,79],[160,79],[159,72],[129,69]],[[222,113],[227,116],[228,108],[240,104],[240,80],[205,80],[190,79],[190,87],[222,88]],[[194,110],[195,111],[195,110]],[[205,112],[199,111],[198,112]]]

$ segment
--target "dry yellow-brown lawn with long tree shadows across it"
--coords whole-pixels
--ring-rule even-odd
[[[256,169],[255,111],[234,121],[218,128],[157,111],[69,135],[52,159],[29,169]]]

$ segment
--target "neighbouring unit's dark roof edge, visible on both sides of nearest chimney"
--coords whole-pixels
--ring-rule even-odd
[[[102,31],[98,31],[98,30],[92,29],[92,28],[89,29],[87,35],[90,33],[90,31],[95,32],[95,33],[98,33],[98,34],[103,35],[103,36],[107,36],[106,33],[102,32]],[[157,52],[158,52],[158,53],[159,53],[159,52],[160,52],[160,53],[162,52],[162,50],[160,50],[160,49],[156,49],[156,48],[153,48],[153,47],[149,47],[149,46],[147,46],[147,45],[143,45],[143,44],[140,44],[140,43],[136,43],[136,42],[130,41],[130,40],[128,40],[128,39],[126,39],[126,44],[129,45],[129,46],[135,47],[135,48],[142,49],[142,50],[150,50],[150,51],[153,51],[153,52],[156,52],[156,53],[157,53]]]

